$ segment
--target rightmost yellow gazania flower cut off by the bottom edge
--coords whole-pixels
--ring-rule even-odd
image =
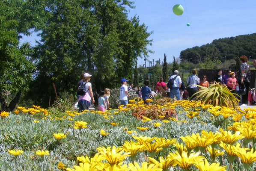
[[[194,164],[199,171],[226,171],[226,166],[220,166],[220,163],[211,163],[209,165],[207,159],[205,159],[205,162],[203,160],[199,163]]]

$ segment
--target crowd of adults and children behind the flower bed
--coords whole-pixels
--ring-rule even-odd
[[[229,90],[233,93],[238,94],[237,97],[240,100],[239,105],[250,105],[250,100],[248,100],[248,92],[250,91],[250,66],[247,64],[246,56],[241,56],[240,60],[241,65],[240,70],[238,71],[239,74],[229,70],[223,76],[222,70],[218,70],[213,82],[210,83],[207,81],[206,75],[203,75],[200,81],[199,77],[196,76],[196,70],[193,69],[192,75],[188,77],[187,80],[188,87],[185,87],[182,78],[179,76],[178,70],[175,70],[174,74],[170,76],[168,83],[165,83],[161,77],[159,82],[156,84],[155,90],[153,91],[151,88],[149,88],[149,80],[144,80],[143,87],[133,89],[133,84],[130,83],[130,85],[128,85],[129,80],[123,78],[121,79],[122,85],[120,87],[119,94],[120,104],[124,106],[128,104],[128,97],[130,97],[129,91],[136,91],[138,97],[141,97],[145,104],[147,104],[147,99],[154,98],[157,94],[161,94],[163,97],[174,98],[175,100],[194,100],[196,96],[193,96],[193,94],[200,90],[200,87],[197,85],[208,88],[211,84],[220,83],[229,88]],[[254,60],[253,64],[256,68],[256,60]],[[84,91],[86,92],[84,95],[77,95],[79,112],[85,109],[89,109],[91,102],[95,102],[92,93],[92,84],[89,82],[91,76],[92,75],[88,73],[84,73],[81,75],[80,81],[77,83],[77,88],[79,88],[81,85],[84,85]],[[254,85],[256,85],[256,79]],[[99,93],[98,109],[100,111],[104,112],[109,108],[109,96],[109,88],[105,88],[104,91]]]

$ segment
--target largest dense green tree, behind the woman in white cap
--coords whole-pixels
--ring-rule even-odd
[[[139,18],[127,19],[126,6],[133,7],[128,0],[48,0],[33,56],[38,73],[30,98],[48,104],[49,96],[54,97],[52,83],[57,93],[75,93],[85,71],[92,74],[97,91],[116,87],[122,77],[131,78],[137,57],[151,52],[151,32]]]

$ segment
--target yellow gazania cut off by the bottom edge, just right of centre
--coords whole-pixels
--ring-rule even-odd
[[[162,168],[158,168],[158,165],[154,165],[154,164],[150,164],[148,167],[148,163],[147,162],[143,162],[140,165],[137,162],[134,162],[134,164],[129,163],[129,169],[131,171],[162,171]]]

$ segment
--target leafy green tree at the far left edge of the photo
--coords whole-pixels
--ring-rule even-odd
[[[35,10],[36,9],[36,10]],[[20,45],[21,34],[40,23],[42,4],[36,0],[0,1],[0,103],[1,110],[12,111],[34,71],[32,53],[28,43]],[[8,104],[7,98],[12,97]]]

